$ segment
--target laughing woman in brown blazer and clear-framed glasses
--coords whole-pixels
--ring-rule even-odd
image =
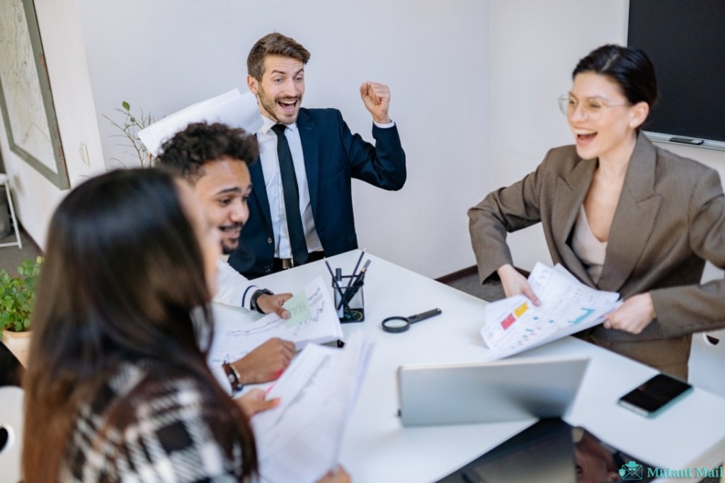
[[[624,299],[587,339],[686,379],[692,332],[725,326],[725,281],[700,285],[706,260],[725,266],[720,178],[639,132],[657,99],[643,51],[602,46],[572,77],[560,105],[576,144],[468,211],[479,276],[538,303],[506,234],[541,222],[554,263]]]

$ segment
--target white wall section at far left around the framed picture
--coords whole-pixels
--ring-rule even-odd
[[[35,0],[35,4],[68,175],[71,186],[75,186],[104,170],[78,14],[74,0]],[[81,143],[88,147],[90,165],[80,159]],[[44,248],[51,214],[66,191],[56,188],[10,151],[1,117],[0,151],[17,217],[28,235]]]

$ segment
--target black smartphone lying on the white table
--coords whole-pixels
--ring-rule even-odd
[[[692,386],[675,377],[657,374],[637,389],[619,398],[620,406],[652,418],[692,391]]]

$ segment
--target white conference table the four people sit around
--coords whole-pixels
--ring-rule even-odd
[[[360,251],[328,259],[350,274]],[[343,324],[345,337],[363,332],[375,343],[341,447],[341,464],[355,483],[434,482],[508,440],[536,420],[403,428],[397,417],[397,368],[403,364],[470,363],[492,356],[479,333],[485,301],[376,256],[365,276],[365,322]],[[323,261],[261,277],[276,293],[297,293],[318,275],[331,283]],[[332,293],[332,289],[330,288]],[[407,332],[381,329],[387,316],[441,308],[442,315]],[[656,371],[574,337],[515,357],[588,356],[589,368],[564,419],[624,453],[661,469],[719,466],[725,457],[725,399],[697,387],[655,419],[621,408],[616,400]],[[451,395],[455,397],[455,395]],[[678,479],[677,481],[687,481]],[[692,479],[691,481],[697,481]]]

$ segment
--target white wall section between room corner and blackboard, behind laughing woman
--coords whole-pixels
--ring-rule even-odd
[[[496,187],[536,169],[550,148],[573,140],[556,99],[576,62],[624,43],[626,0],[492,1],[491,175]],[[541,225],[509,236],[516,266],[551,263]]]

